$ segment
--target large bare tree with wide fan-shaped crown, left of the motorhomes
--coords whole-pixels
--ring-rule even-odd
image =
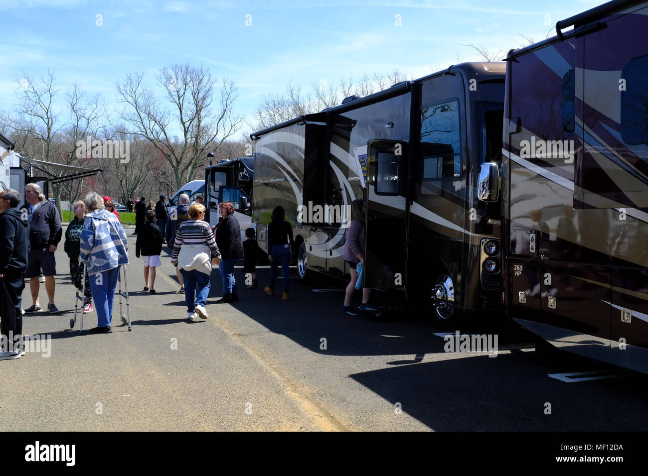
[[[118,100],[126,106],[121,112],[124,129],[119,131],[148,139],[170,164],[176,187],[181,187],[202,168],[207,152],[218,150],[240,128],[242,118],[234,112],[237,87],[223,78],[215,93],[208,69],[189,63],[163,67],[157,83],[170,111],[143,80],[144,73],[127,74],[116,85]],[[220,97],[213,106],[215,94]]]

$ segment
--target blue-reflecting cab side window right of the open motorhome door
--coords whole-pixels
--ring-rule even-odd
[[[450,100],[421,108],[418,152],[423,180],[461,177],[459,101]]]

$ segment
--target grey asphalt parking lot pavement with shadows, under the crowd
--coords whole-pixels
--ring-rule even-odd
[[[175,268],[163,255],[155,295],[127,229],[132,331],[115,297],[113,332],[69,328],[75,288],[62,245],[56,251],[60,313],[26,314],[23,332],[45,338],[25,356],[0,361],[3,431],[619,431],[644,430],[647,377],[568,354],[538,363],[529,336],[480,317],[461,334],[497,335],[499,352],[447,352],[429,315],[375,319],[339,311],[345,283],[291,279],[291,300],[240,286],[222,296],[215,268],[209,319],[186,320]],[[242,265],[242,262],[240,263]],[[242,266],[236,277],[243,284]],[[277,290],[281,288],[281,279]],[[47,304],[41,285],[41,306]],[[29,283],[23,308],[31,304]],[[124,313],[125,300],[124,300]],[[97,314],[84,317],[84,328]],[[450,332],[455,333],[455,330]],[[437,335],[438,334],[438,335]],[[607,372],[562,381],[564,372]],[[549,404],[549,405],[548,405]],[[548,409],[549,408],[549,412]]]

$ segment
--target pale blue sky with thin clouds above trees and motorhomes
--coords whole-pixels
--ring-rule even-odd
[[[14,104],[23,71],[49,68],[64,86],[78,82],[117,108],[115,82],[126,73],[144,71],[154,85],[159,68],[189,61],[231,78],[237,111],[249,117],[260,96],[283,93],[289,81],[308,91],[373,71],[424,76],[478,60],[459,43],[505,52],[524,43],[519,34],[542,40],[560,19],[600,3],[0,0],[0,110]]]

